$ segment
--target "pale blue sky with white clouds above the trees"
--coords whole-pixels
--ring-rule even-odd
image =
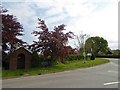
[[[19,37],[32,44],[37,37],[38,18],[45,20],[48,28],[66,25],[66,31],[75,35],[100,36],[108,41],[111,49],[118,49],[118,2],[119,0],[5,0],[2,6],[17,17],[24,27]],[[75,47],[75,39],[69,45]]]

